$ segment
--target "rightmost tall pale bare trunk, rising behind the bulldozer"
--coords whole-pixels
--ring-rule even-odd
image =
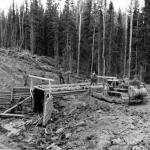
[[[128,66],[128,78],[129,79],[130,79],[130,76],[131,76],[132,25],[133,25],[133,0],[131,0],[131,19],[130,19],[129,66]]]

